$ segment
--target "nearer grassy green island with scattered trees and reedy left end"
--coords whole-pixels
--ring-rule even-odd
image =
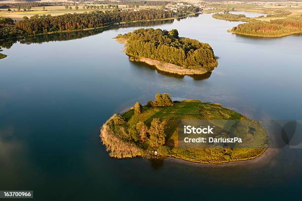
[[[208,143],[206,148],[180,147],[178,126],[184,119],[244,120],[246,126],[241,127],[241,134],[236,136],[249,144],[249,148],[223,143]],[[226,138],[228,134],[214,134],[213,137]],[[172,101],[169,94],[156,94],[155,100],[145,106],[136,102],[125,113],[114,114],[102,126],[100,138],[109,155],[118,159],[174,157],[205,164],[254,159],[264,153],[268,143],[266,131],[257,121],[218,103]]]

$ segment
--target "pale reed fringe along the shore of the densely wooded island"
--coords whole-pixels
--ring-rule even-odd
[[[116,38],[114,37],[114,39],[121,44],[127,44],[127,39],[126,38]],[[124,51],[124,49],[122,49],[122,51]],[[125,52],[125,51],[124,51]],[[215,67],[217,66],[213,66],[213,67],[209,67],[209,69],[189,69],[189,68],[184,68],[175,64],[170,64],[170,63],[164,63],[158,60],[153,60],[153,59],[149,59],[146,57],[134,57],[132,55],[128,55],[129,56],[129,60],[133,61],[133,62],[142,62],[144,64],[148,64],[150,66],[155,67],[157,70],[162,71],[162,72],[167,72],[167,73],[171,73],[171,74],[177,74],[177,75],[205,75],[208,73],[211,73]]]

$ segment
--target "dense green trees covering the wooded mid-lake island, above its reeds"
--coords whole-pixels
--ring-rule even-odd
[[[177,30],[139,29],[118,35],[127,38],[126,54],[145,57],[185,68],[217,66],[212,47],[190,38],[180,38]]]

